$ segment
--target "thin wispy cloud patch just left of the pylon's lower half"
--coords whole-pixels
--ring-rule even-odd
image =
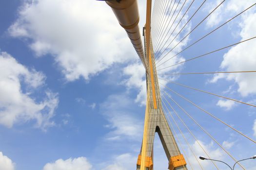
[[[136,139],[142,135],[142,121],[133,116],[131,106],[135,104],[126,95],[111,95],[100,105],[102,114],[109,121],[107,128],[112,131],[107,135],[108,139]]]

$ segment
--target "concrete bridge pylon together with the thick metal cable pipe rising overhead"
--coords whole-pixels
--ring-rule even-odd
[[[153,144],[156,132],[159,135],[167,159],[169,170],[187,170],[186,161],[180,153],[176,140],[165,118],[160,98],[158,75],[151,41],[151,0],[147,0],[146,25],[143,29],[144,50],[139,33],[137,0],[109,0],[119,24],[123,27],[146,69],[147,103],[143,140],[138,155],[137,170],[153,170]]]

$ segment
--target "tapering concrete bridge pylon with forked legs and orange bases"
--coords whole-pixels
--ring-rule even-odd
[[[156,133],[158,133],[164,152],[169,161],[168,169],[187,170],[186,161],[179,151],[175,137],[173,136],[173,133],[163,112],[153,47],[150,36],[147,37],[150,33],[150,30],[147,30],[147,28],[150,27],[147,27],[146,24],[143,32],[145,42],[145,56],[147,62],[147,103],[145,111],[143,141],[140,153],[138,155],[137,170],[153,170],[153,145]]]

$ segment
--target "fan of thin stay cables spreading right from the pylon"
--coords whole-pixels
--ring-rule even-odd
[[[230,160],[233,160],[234,162],[237,161],[236,156],[232,155],[228,150],[229,148],[225,148],[223,144],[220,143],[216,139],[217,134],[212,134],[211,129],[209,129],[209,126],[204,127],[205,122],[201,119],[198,119],[197,114],[203,114],[204,116],[209,116],[209,119],[215,123],[219,123],[219,127],[223,127],[225,131],[226,129],[229,129],[232,133],[236,133],[237,136],[243,137],[244,140],[248,140],[252,142],[252,144],[256,144],[256,141],[253,139],[253,137],[246,135],[241,130],[236,129],[236,125],[233,125],[232,119],[227,120],[223,118],[219,118],[219,114],[211,113],[211,107],[207,107],[207,109],[204,109],[203,106],[200,106],[201,104],[198,104],[198,99],[196,99],[196,102],[192,101],[193,97],[197,97],[197,93],[202,93],[210,96],[214,96],[220,99],[232,101],[235,103],[243,104],[244,107],[250,107],[252,109],[256,108],[256,105],[249,102],[243,102],[237,99],[233,99],[231,97],[227,97],[224,95],[216,94],[214,92],[210,92],[211,90],[202,90],[197,87],[192,87],[189,85],[184,85],[179,82],[176,82],[177,76],[205,76],[205,75],[221,75],[221,74],[254,74],[256,75],[256,70],[232,70],[232,71],[212,71],[212,70],[203,70],[203,71],[193,71],[193,72],[180,72],[178,69],[179,66],[186,66],[185,64],[195,64],[197,61],[197,64],[200,62],[200,59],[207,59],[207,57],[213,57],[213,54],[215,54],[215,57],[222,57],[222,53],[225,52],[225,50],[229,50],[232,47],[245,44],[245,43],[251,43],[252,41],[256,41],[256,34],[255,36],[249,37],[247,39],[242,39],[240,41],[236,41],[233,43],[226,44],[222,47],[218,47],[216,49],[212,47],[217,47],[215,44],[212,46],[212,44],[205,45],[207,48],[201,49],[201,52],[199,50],[196,51],[196,55],[190,55],[189,50],[191,50],[193,47],[197,47],[197,45],[200,45],[200,43],[203,43],[207,40],[209,42],[209,38],[211,36],[214,36],[215,33],[221,32],[221,29],[224,29],[225,26],[227,27],[228,24],[232,24],[232,22],[235,22],[236,19],[241,19],[244,14],[249,12],[250,10],[255,10],[256,3],[252,3],[251,5],[248,5],[243,10],[237,12],[234,16],[228,18],[227,20],[223,21],[219,25],[217,25],[215,28],[207,28],[204,29],[207,33],[200,35],[196,34],[199,30],[199,28],[202,29],[202,26],[204,26],[207,19],[209,19],[213,14],[218,12],[220,8],[222,8],[226,3],[228,3],[229,0],[221,0],[218,1],[218,4],[210,10],[209,13],[205,14],[205,8],[206,5],[209,5],[209,0],[155,0],[154,6],[152,8],[152,17],[151,17],[151,38],[150,41],[150,48],[154,49],[154,56],[155,56],[155,63],[158,71],[158,81],[161,87],[161,102],[163,106],[163,111],[166,115],[166,118],[168,119],[168,122],[170,124],[170,127],[174,133],[175,138],[177,139],[177,144],[181,148],[182,153],[184,154],[186,161],[188,162],[188,169],[191,170],[197,170],[198,167],[201,170],[207,169],[207,167],[204,167],[201,162],[198,160],[198,155],[195,152],[195,149],[191,145],[191,141],[194,141],[197,146],[200,148],[200,151],[207,155],[211,159],[211,154],[205,148],[205,146],[198,140],[198,138],[202,138],[203,135],[198,136],[195,133],[195,129],[198,129],[197,131],[203,132],[205,136],[208,137],[211,141],[215,143],[215,145],[223,152],[225,153]],[[199,14],[200,13],[200,14]],[[203,16],[201,19],[201,16]],[[199,21],[198,21],[199,20]],[[208,31],[210,30],[210,31]],[[193,35],[193,38],[190,38],[190,36]],[[196,36],[197,35],[197,36]],[[220,41],[223,41],[223,39],[220,39]],[[226,40],[228,41],[228,40]],[[220,44],[224,44],[225,42],[222,42]],[[198,47],[197,47],[198,49]],[[210,49],[208,51],[208,49]],[[192,49],[193,50],[193,49]],[[195,53],[195,50],[191,53]],[[220,54],[221,53],[221,54]],[[181,56],[183,59],[180,59]],[[246,59],[246,56],[244,56]],[[194,62],[189,62],[194,61]],[[205,61],[205,60],[204,60]],[[199,63],[200,64],[200,63]],[[191,68],[191,66],[190,66]],[[218,69],[218,68],[216,68]],[[199,79],[199,78],[195,78]],[[177,92],[175,89],[182,89],[182,92]],[[183,93],[183,89],[190,89],[191,93],[193,95],[189,94],[189,97],[185,97]],[[192,91],[193,90],[193,91]],[[194,99],[195,100],[195,99]],[[204,101],[201,101],[204,102]],[[211,101],[210,101],[211,102]],[[182,104],[183,103],[183,106]],[[184,106],[184,103],[186,103],[186,106]],[[193,109],[187,109],[187,108],[193,108]],[[205,106],[204,106],[205,107]],[[194,110],[198,109],[196,112]],[[190,111],[192,110],[192,111]],[[214,109],[213,109],[214,110]],[[241,113],[242,114],[242,113]],[[218,116],[216,116],[218,115]],[[190,121],[190,123],[188,123]],[[203,123],[200,123],[203,122]],[[145,120],[146,123],[146,120]],[[190,127],[188,124],[193,123],[192,127]],[[211,123],[211,122],[209,122]],[[146,136],[144,136],[146,137]],[[242,139],[241,139],[242,140]],[[187,146],[185,148],[184,146]],[[193,161],[193,162],[191,162]],[[198,166],[195,166],[195,163],[198,164]],[[219,170],[217,164],[212,161],[212,165]],[[241,169],[245,170],[245,168],[238,163]]]

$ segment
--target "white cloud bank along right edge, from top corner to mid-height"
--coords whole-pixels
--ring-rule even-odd
[[[222,17],[218,17],[219,21],[217,24],[224,20],[224,17],[235,16],[239,12],[248,8],[255,1],[240,1],[240,0],[231,0],[224,7],[226,10]],[[239,34],[238,38],[241,41],[252,38],[255,36],[256,30],[256,13],[255,8],[251,8],[246,13],[241,16],[241,19],[238,21],[239,25]],[[211,20],[208,20],[211,22]],[[214,24],[215,25],[215,24]],[[236,30],[237,31],[237,30]],[[221,70],[226,71],[247,71],[247,70],[255,70],[256,66],[256,40],[250,40],[248,42],[236,45],[232,47],[228,52],[226,52],[223,56],[223,61],[220,65]],[[211,82],[215,83],[219,79],[224,78],[226,80],[233,80],[238,85],[237,91],[243,96],[246,97],[250,94],[256,94],[256,74],[255,73],[236,73],[236,74],[218,74],[216,75]]]

